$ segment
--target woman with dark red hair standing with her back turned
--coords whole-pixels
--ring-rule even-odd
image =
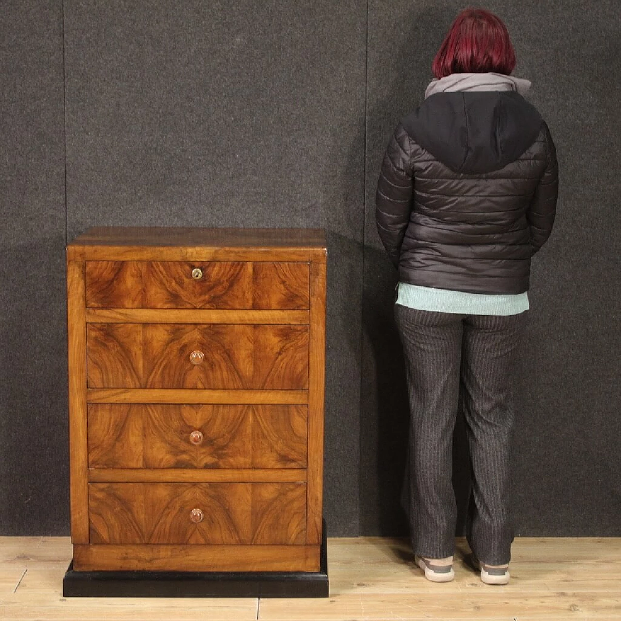
[[[528,322],[530,260],[550,236],[558,194],[550,131],[514,68],[499,17],[461,12],[433,60],[424,102],[388,144],[376,196],[379,237],[399,271],[412,545],[436,582],[454,577],[451,438],[460,383],[471,563],[483,582],[509,582],[512,373]]]

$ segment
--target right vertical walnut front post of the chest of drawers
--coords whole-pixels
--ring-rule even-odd
[[[306,543],[321,543],[324,471],[326,264],[311,265]]]

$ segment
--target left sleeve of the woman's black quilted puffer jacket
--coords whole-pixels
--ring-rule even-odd
[[[375,220],[381,242],[395,267],[412,209],[414,175],[410,161],[411,140],[397,125],[386,147],[375,197]]]

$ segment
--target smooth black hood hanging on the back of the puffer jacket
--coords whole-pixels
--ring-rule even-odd
[[[517,160],[542,122],[537,109],[515,91],[468,90],[429,94],[401,124],[451,170],[482,174]]]

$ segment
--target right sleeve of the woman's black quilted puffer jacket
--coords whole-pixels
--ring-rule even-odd
[[[556,149],[550,135],[550,129],[548,129],[548,125],[545,122],[543,123],[543,129],[546,142],[546,167],[526,211],[533,255],[550,237],[556,214],[556,201],[558,199],[558,161],[556,161]]]

